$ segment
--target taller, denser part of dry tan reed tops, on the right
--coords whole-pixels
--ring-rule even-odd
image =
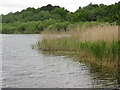
[[[113,41],[118,40],[118,26],[102,25],[96,27],[78,28],[76,31],[71,31],[72,37],[80,41]]]

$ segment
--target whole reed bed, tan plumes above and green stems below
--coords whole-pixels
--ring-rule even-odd
[[[42,40],[38,42],[39,49],[76,52],[80,58],[94,59],[97,63],[106,63],[105,65],[108,63],[117,65],[120,40],[118,40],[116,25],[78,26],[75,30],[69,29],[68,32],[61,33],[61,36],[57,35],[57,38],[52,35],[43,35]]]

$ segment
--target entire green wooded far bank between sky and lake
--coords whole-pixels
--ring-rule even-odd
[[[48,4],[41,8],[27,8],[21,12],[8,13],[2,16],[2,33],[40,33],[46,29],[67,30],[69,25],[78,22],[109,22],[120,24],[120,2],[112,5],[92,4],[75,12],[69,12],[65,8]]]

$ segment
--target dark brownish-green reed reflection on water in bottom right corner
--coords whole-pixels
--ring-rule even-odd
[[[105,87],[120,88],[120,67],[114,68],[96,66],[95,64],[85,62],[87,67],[90,68],[90,75],[92,77],[92,84],[94,87],[103,85]],[[118,63],[118,65],[120,65]]]

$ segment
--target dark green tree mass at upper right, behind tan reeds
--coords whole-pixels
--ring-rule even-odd
[[[102,21],[117,22],[120,13],[120,2],[112,5],[89,4],[86,7],[78,9],[74,14],[74,21]]]

